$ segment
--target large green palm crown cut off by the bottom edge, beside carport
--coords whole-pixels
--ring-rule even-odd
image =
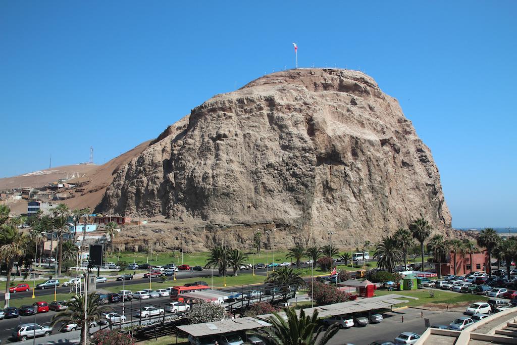
[[[266,335],[268,345],[325,345],[339,330],[338,325],[333,324],[324,331],[324,326],[318,323],[317,310],[308,316],[300,309],[299,317],[294,308],[284,308],[284,312],[287,320],[274,312],[269,318],[271,326],[256,333]]]

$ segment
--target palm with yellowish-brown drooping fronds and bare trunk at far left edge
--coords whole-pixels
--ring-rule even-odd
[[[7,280],[5,283],[5,292],[9,292],[9,283],[11,282],[11,272],[14,262],[18,258],[25,255],[28,236],[11,226],[4,226],[0,231],[0,260],[7,263]]]

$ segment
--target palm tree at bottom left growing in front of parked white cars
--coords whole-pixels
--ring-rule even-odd
[[[86,307],[86,319],[84,318],[84,299],[86,294],[74,295],[70,301],[67,302],[68,308],[58,312],[52,317],[51,326],[54,327],[59,323],[67,325],[75,323],[81,327],[81,343],[84,341],[84,332],[87,329],[87,338],[89,338],[90,325],[98,322],[103,312],[108,312],[111,308],[107,305],[99,304],[99,295],[88,294],[88,301]]]

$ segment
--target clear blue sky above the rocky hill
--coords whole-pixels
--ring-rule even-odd
[[[188,3],[188,5],[187,5]],[[274,70],[366,70],[431,148],[454,227],[517,225],[517,2],[0,2],[0,177],[103,163]]]

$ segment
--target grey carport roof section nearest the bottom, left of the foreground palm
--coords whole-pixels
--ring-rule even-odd
[[[194,325],[184,325],[178,326],[178,328],[194,337],[201,337],[206,335],[246,331],[247,329],[261,328],[270,325],[270,323],[263,320],[246,317],[217,322],[197,323]]]

